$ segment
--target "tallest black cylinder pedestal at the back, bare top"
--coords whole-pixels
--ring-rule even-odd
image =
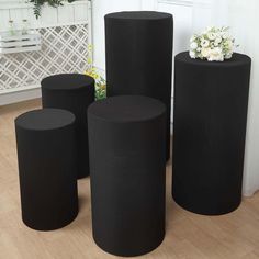
[[[167,106],[170,157],[173,20],[161,12],[119,12],[105,16],[108,95],[147,95]]]

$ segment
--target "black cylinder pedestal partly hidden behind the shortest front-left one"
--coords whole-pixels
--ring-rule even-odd
[[[61,74],[42,81],[43,108],[64,109],[76,116],[78,179],[89,176],[87,109],[94,101],[94,79],[80,74]]]

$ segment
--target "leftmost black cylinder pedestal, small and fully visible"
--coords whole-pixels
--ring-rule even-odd
[[[78,214],[75,116],[56,109],[15,120],[22,219],[37,230],[66,226]]]

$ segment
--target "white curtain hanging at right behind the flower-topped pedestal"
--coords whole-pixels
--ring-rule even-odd
[[[259,0],[194,0],[193,33],[229,25],[239,53],[252,58],[244,168],[244,195],[259,190]]]

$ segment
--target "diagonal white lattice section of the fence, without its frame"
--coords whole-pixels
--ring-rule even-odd
[[[38,29],[42,50],[0,56],[0,93],[38,85],[49,75],[88,68],[88,24]]]

